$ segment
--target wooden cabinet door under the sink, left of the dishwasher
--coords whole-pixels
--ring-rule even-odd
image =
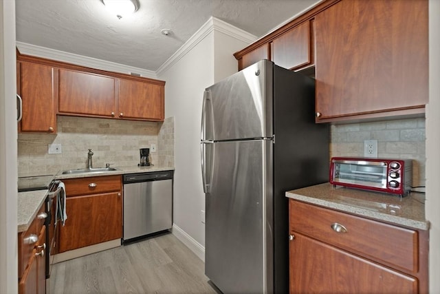
[[[122,238],[121,193],[68,197],[59,252]]]

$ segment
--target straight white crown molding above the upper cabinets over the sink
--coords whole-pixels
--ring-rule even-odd
[[[113,63],[111,61],[104,61],[101,59],[94,59],[92,57],[72,54],[50,48],[45,48],[28,43],[17,41],[17,49],[21,54],[37,56],[45,59],[52,59],[56,61],[63,61],[65,63],[72,63],[74,65],[82,65],[85,67],[95,68],[97,70],[106,70],[109,72],[120,72],[122,74],[136,73],[147,78],[157,78],[156,72],[152,70],[144,70],[139,67],[131,67],[129,65],[122,65],[120,63]]]

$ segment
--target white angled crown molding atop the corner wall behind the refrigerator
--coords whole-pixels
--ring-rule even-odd
[[[235,39],[243,41],[245,43],[252,43],[256,41],[257,37],[253,34],[245,32],[239,28],[234,27],[234,25],[230,25],[221,19],[217,19],[216,17],[210,17],[206,23],[204,23],[195,34],[193,34],[184,45],[181,45],[181,48],[177,50],[170,58],[162,64],[159,69],[157,69],[156,74],[160,76],[162,72],[165,72],[170,67],[172,67],[177,61],[182,59],[192,48],[194,48],[198,43],[203,41],[203,39],[208,36],[213,31],[221,32],[223,34],[227,34],[228,36],[232,36]]]

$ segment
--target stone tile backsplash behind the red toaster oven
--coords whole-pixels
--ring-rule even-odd
[[[425,185],[425,118],[331,126],[330,157],[364,156],[364,140],[377,140],[378,158],[412,159],[412,185]]]

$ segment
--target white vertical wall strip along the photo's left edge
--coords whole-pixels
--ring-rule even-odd
[[[15,1],[0,1],[0,293],[17,293]]]

